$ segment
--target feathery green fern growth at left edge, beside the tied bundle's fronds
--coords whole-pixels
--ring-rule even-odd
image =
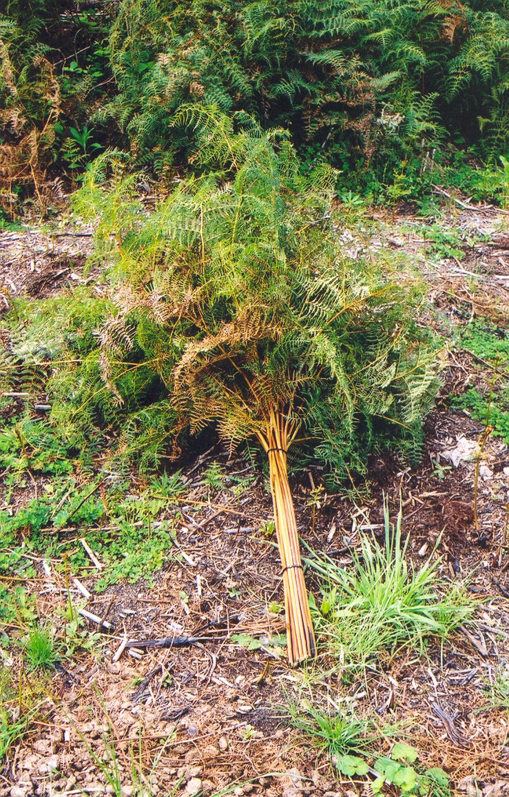
[[[129,358],[104,374],[100,340],[111,318],[110,300],[79,288],[47,300],[14,300],[2,324],[0,459],[9,477],[27,467],[59,476],[98,467],[127,474],[156,469],[166,453],[174,412],[151,367],[154,351],[139,325]],[[47,407],[34,413],[33,404]]]

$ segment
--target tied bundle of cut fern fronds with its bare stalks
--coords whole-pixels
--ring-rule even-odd
[[[437,387],[433,352],[406,320],[403,290],[343,257],[330,168],[303,177],[285,135],[245,115],[191,108],[179,121],[197,136],[194,163],[216,171],[178,183],[147,214],[133,210],[131,178],[111,191],[100,184],[106,156],[76,198],[82,214],[101,208],[117,281],[101,334],[104,379],[115,390],[121,353],[148,338],[175,434],[213,424],[232,446],[260,442],[296,662],[315,643],[288,450],[300,442],[344,473],[382,426],[412,436]]]

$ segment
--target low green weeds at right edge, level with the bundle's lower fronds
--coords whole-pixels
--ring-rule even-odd
[[[491,434],[509,443],[509,334],[491,321],[478,319],[460,333],[458,347],[473,352],[491,373],[483,387],[469,387],[451,398],[452,406],[467,410],[472,418],[492,427]],[[480,364],[482,368],[484,363]]]

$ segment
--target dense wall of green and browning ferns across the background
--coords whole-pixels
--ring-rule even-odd
[[[507,0],[10,0],[0,41],[10,210],[23,185],[45,202],[52,164],[76,175],[108,145],[157,175],[190,167],[192,132],[174,126],[189,103],[288,129],[304,167],[327,159],[376,199],[423,181],[499,194]]]

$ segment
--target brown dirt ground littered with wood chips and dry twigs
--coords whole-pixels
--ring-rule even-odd
[[[452,206],[442,224],[489,238],[468,246],[461,261],[429,257],[425,239],[412,232],[422,223],[412,214],[377,223],[366,240],[343,231],[350,253],[390,247],[411,257],[429,285],[437,316],[448,323],[490,316],[507,324],[509,216]],[[2,234],[5,306],[13,293],[48,296],[72,282],[100,283],[96,273],[84,275],[90,245],[86,234]],[[432,316],[429,323],[435,323]],[[288,668],[284,650],[269,644],[284,632],[284,618],[269,611],[282,599],[279,558],[272,538],[260,534],[260,524],[272,517],[270,496],[261,475],[243,497],[231,489],[211,491],[202,479],[211,462],[221,462],[227,477],[250,469],[217,444],[185,470],[183,521],[175,540],[180,561],[169,563],[153,587],[120,583],[97,594],[97,567],[91,562],[88,575],[80,574],[90,594],[87,611],[108,623],[101,626],[100,652],[84,652],[58,666],[48,683],[45,719],[0,771],[0,797],[117,792],[193,797],[228,788],[235,795],[264,797],[369,794],[365,779],[339,777],[324,752],[292,728],[285,707],[303,707],[311,699],[332,710],[378,716],[381,726],[402,720],[423,763],[444,768],[456,792],[509,797],[509,717],[490,708],[486,692],[499,668],[509,666],[508,447],[487,439],[476,528],[476,462],[464,452],[471,443],[472,451],[484,427],[444,400],[489,379],[489,368],[468,351],[447,352],[421,466],[402,467],[390,456],[374,459],[370,498],[362,505],[328,494],[313,523],[309,474],[300,474],[292,485],[303,540],[344,565],[360,544],[362,526],[380,524],[383,493],[393,517],[401,496],[413,561],[417,566],[424,561],[440,538],[440,575],[467,584],[477,603],[474,625],[442,648],[430,646],[425,656],[388,654],[379,669],[350,685],[327,654]],[[319,483],[319,471],[311,475]],[[51,617],[65,606],[67,586],[54,562],[32,558],[37,578],[29,590],[37,594],[41,615]],[[307,581],[317,595],[312,574]],[[77,587],[73,595],[82,597]],[[89,630],[96,633],[98,625],[91,622]],[[249,634],[260,647],[249,650],[233,642],[234,634]],[[188,636],[199,640],[157,644]],[[14,663],[3,660],[4,666]]]

